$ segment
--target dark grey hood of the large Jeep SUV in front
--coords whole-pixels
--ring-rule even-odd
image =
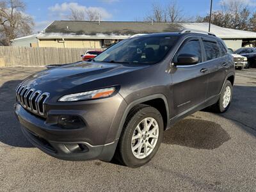
[[[147,67],[147,65],[122,65],[119,63],[81,61],[38,72],[25,79],[22,83],[42,92],[83,92],[91,88],[117,85],[118,82],[113,81],[113,79],[116,81],[116,76],[143,67]]]

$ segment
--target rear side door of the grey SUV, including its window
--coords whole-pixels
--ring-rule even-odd
[[[228,65],[228,54],[222,53],[221,47],[214,38],[202,37],[205,68],[208,70],[208,86],[205,99],[210,99],[221,92],[225,81],[225,70]]]

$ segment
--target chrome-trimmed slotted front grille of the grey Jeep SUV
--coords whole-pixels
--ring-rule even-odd
[[[29,88],[23,84],[19,84],[15,92],[17,100],[23,108],[37,115],[46,116],[45,101],[48,99],[50,93],[42,93],[40,90]]]

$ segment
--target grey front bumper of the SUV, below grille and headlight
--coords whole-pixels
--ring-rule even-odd
[[[115,153],[115,148],[118,143],[118,139],[115,138],[118,127],[116,127],[119,114],[119,110],[122,110],[122,106],[125,107],[124,100],[118,96],[116,98],[109,98],[115,100],[115,104],[112,104],[112,111],[108,111],[108,120],[104,120],[104,104],[102,106],[102,118],[99,122],[99,115],[95,114],[95,118],[92,118],[92,114],[83,110],[52,110],[48,115],[56,114],[76,114],[81,116],[86,122],[86,127],[81,129],[61,129],[54,124],[47,122],[47,119],[40,118],[22,108],[20,104],[15,104],[15,115],[17,116],[22,129],[22,132],[28,138],[28,140],[38,147],[40,150],[49,154],[50,156],[58,159],[65,159],[71,161],[81,161],[88,159],[100,159],[103,161],[110,161]],[[118,102],[119,101],[119,102]],[[90,101],[87,106],[93,106],[93,102]],[[126,102],[125,102],[126,104]],[[81,108],[81,105],[77,105]],[[63,106],[62,106],[63,107]],[[73,105],[76,109],[76,105]],[[97,109],[97,108],[96,108]],[[92,111],[90,111],[93,113]],[[95,112],[95,111],[94,111]],[[87,114],[87,115],[86,115]],[[51,116],[50,115],[50,116]],[[113,118],[111,118],[111,116]],[[48,117],[47,117],[48,118]],[[109,121],[109,118],[111,121]],[[105,126],[99,126],[99,124]]]

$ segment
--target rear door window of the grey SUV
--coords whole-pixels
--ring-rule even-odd
[[[216,42],[203,41],[206,60],[213,60],[221,56]]]

